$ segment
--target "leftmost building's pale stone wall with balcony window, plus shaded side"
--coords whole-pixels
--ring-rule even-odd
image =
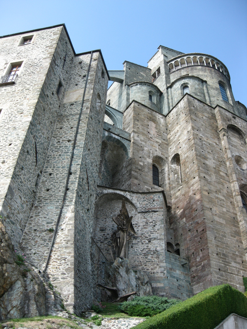
[[[63,91],[59,97],[56,88],[59,80],[67,84],[73,59],[62,26],[35,32],[31,44],[18,46],[19,41],[20,35],[0,39],[6,49],[1,52],[2,74],[7,63],[23,61],[16,83],[0,86],[1,215],[15,246],[33,206],[60,111]]]

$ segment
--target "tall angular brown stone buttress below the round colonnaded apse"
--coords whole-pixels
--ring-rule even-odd
[[[246,261],[214,110],[187,95],[167,125],[169,158],[179,152],[182,173],[171,190],[171,224],[189,257],[193,292],[223,282],[243,289]]]

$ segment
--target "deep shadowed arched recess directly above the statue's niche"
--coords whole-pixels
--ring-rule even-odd
[[[114,136],[103,136],[99,164],[99,185],[126,188],[128,181],[125,172],[126,160],[129,159],[127,146]]]

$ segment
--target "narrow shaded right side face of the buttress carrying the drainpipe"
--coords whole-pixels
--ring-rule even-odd
[[[104,78],[101,73],[104,72]],[[94,271],[95,263],[90,264],[91,238],[93,235],[93,218],[96,199],[97,176],[100,161],[101,136],[103,132],[106,91],[108,78],[99,53],[94,53],[92,68],[89,74],[88,88],[83,106],[83,130],[85,142],[80,162],[75,195],[75,231],[74,231],[74,294],[75,312],[80,314],[82,310],[91,307],[95,293],[99,291],[95,287]],[[87,266],[90,265],[90,266]]]

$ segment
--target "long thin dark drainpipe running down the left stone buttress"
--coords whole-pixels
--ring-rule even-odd
[[[79,117],[78,117],[78,121],[77,121],[77,126],[76,126],[76,130],[75,130],[75,137],[74,137],[72,152],[71,152],[71,156],[70,156],[69,170],[68,170],[68,174],[67,174],[67,180],[66,180],[66,186],[65,186],[65,190],[64,190],[64,196],[63,196],[62,204],[61,204],[60,211],[59,211],[59,214],[58,214],[57,224],[56,224],[56,227],[55,227],[55,231],[54,231],[54,234],[53,234],[53,238],[52,238],[52,241],[51,241],[51,246],[50,246],[50,249],[49,249],[49,253],[48,253],[48,256],[47,256],[47,259],[46,259],[46,263],[45,263],[43,272],[46,271],[48,263],[49,263],[51,250],[52,250],[52,247],[53,247],[53,244],[54,244],[54,241],[55,241],[55,237],[56,237],[56,233],[57,233],[57,229],[58,229],[58,224],[59,224],[60,217],[61,217],[61,214],[62,214],[62,210],[63,210],[63,207],[64,207],[64,200],[65,200],[65,197],[66,197],[67,187],[68,187],[68,182],[69,182],[69,173],[70,173],[72,159],[73,159],[73,156],[74,156],[75,142],[76,142],[76,137],[77,137],[77,133],[78,133],[78,127],[79,127],[79,123],[80,123],[80,118],[81,118],[81,113],[82,113],[82,108],[83,108],[83,103],[84,103],[84,97],[85,97],[85,93],[86,93],[86,87],[87,87],[87,82],[88,82],[89,69],[90,69],[92,56],[93,56],[93,52],[91,51],[91,57],[90,57],[89,66],[88,66],[88,73],[87,73],[87,77],[86,77],[86,82],[85,82],[85,87],[84,87],[83,96],[82,96],[80,113],[79,113]]]

